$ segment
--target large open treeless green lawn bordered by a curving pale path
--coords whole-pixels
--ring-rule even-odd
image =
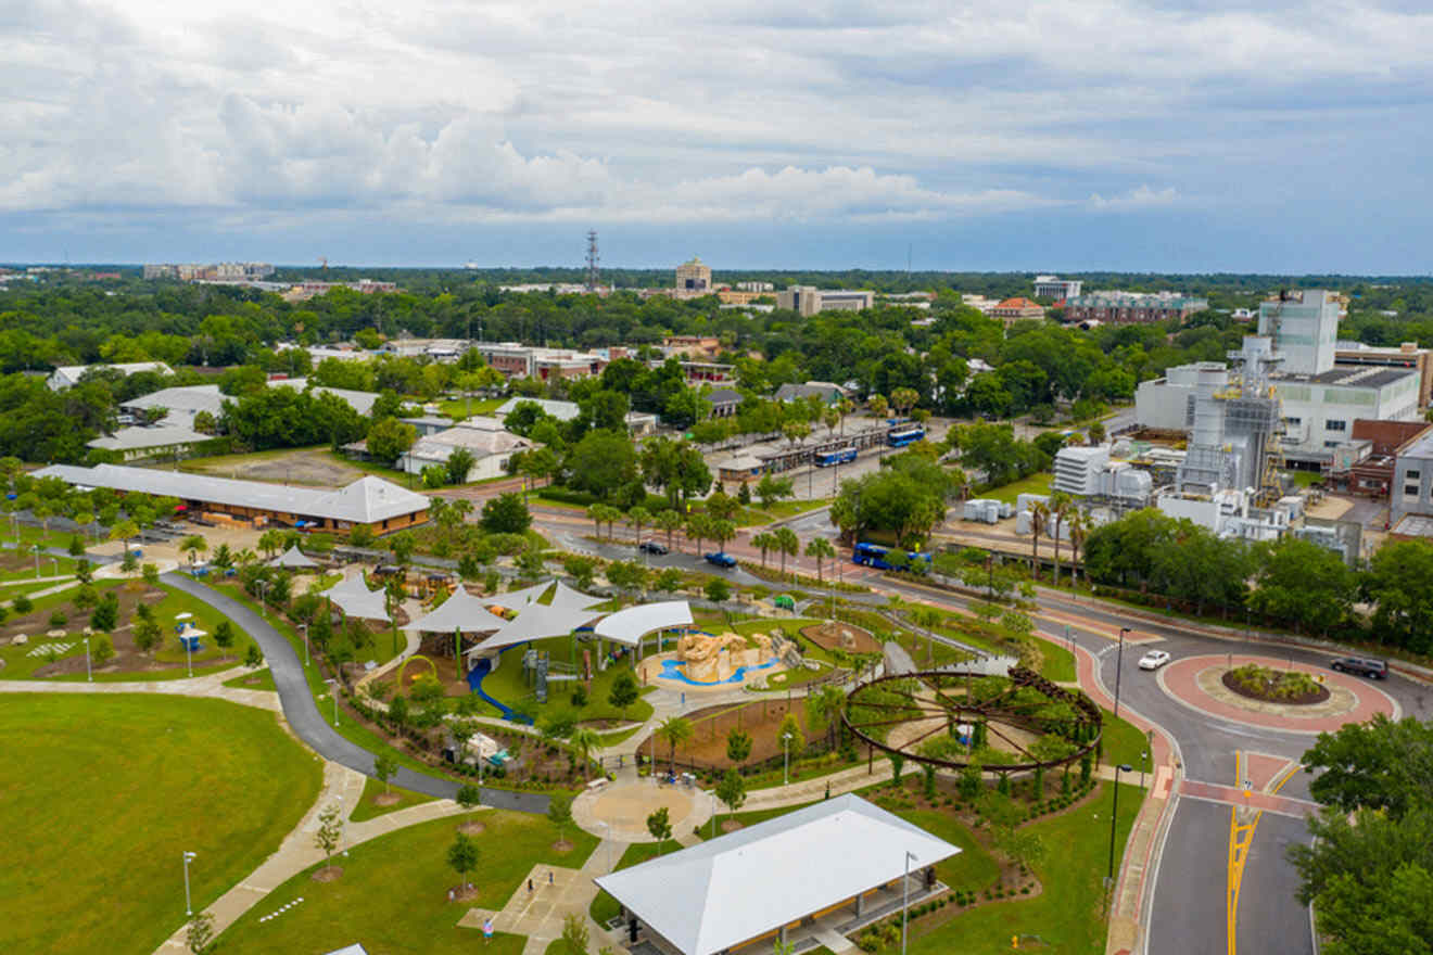
[[[76,727],[83,726],[83,732]],[[254,871],[312,805],[321,763],[272,713],[159,696],[0,696],[0,951],[148,955]]]

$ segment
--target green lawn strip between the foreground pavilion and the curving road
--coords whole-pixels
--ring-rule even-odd
[[[1105,951],[1103,878],[1109,852],[1112,790],[1101,785],[1096,796],[1059,816],[1030,826],[1045,843],[1046,859],[1037,865],[1045,891],[1035,898],[980,905],[933,931],[911,925],[911,955],[995,955],[1010,951],[1010,936],[1037,935],[1045,948],[1060,955],[1098,955]],[[1139,812],[1138,786],[1122,786],[1116,829],[1115,866],[1123,853],[1129,828]]]

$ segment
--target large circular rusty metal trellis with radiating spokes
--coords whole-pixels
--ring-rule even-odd
[[[996,686],[987,680],[1003,683]],[[1066,766],[1099,746],[1103,732],[1099,707],[1089,697],[1025,667],[1013,667],[1009,677],[960,670],[919,670],[877,677],[850,692],[841,722],[867,746],[921,766],[956,770],[970,765],[950,752],[959,752],[959,747],[949,747],[941,756],[923,753],[921,747],[927,747],[930,740],[954,736],[962,723],[983,723],[986,733],[1002,740],[1020,760],[980,766],[999,773]],[[898,743],[888,742],[896,727],[910,724],[917,724],[919,732]],[[1036,737],[1053,733],[1072,749],[1042,759],[1030,752],[1019,733],[1009,729]]]

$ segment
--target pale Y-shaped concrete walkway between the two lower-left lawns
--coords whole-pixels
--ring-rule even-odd
[[[318,799],[304,815],[304,819],[287,835],[279,848],[265,859],[259,868],[246,875],[228,892],[221,895],[209,908],[203,909],[214,916],[214,934],[219,935],[229,925],[234,925],[245,912],[259,905],[264,898],[284,885],[311,865],[324,861],[324,853],[314,845],[314,833],[318,830],[318,813],[330,803],[338,803],[347,819],[358,800],[363,798],[363,787],[367,777],[340,763],[324,763],[324,787]],[[353,846],[388,835],[397,829],[413,826],[430,819],[456,816],[464,809],[449,799],[436,799],[420,806],[411,806],[398,812],[390,812],[365,822],[347,823],[340,845],[340,852]],[[155,955],[172,955],[188,951],[185,936],[188,925],[181,925],[173,935],[165,941]]]

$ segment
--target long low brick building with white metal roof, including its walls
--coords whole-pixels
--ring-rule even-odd
[[[60,478],[75,487],[103,487],[120,494],[175,497],[191,513],[236,517],[252,521],[255,527],[274,523],[345,533],[361,524],[375,534],[388,534],[428,520],[427,497],[371,475],[337,490],[236,481],[185,471],[126,468],[116,464],[100,464],[93,468],[52,464],[34,475]]]

